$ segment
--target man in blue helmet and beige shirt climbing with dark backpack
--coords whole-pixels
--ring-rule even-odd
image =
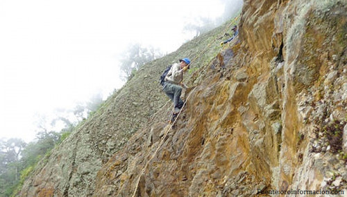
[[[164,77],[162,84],[162,90],[174,102],[174,112],[171,116],[170,122],[174,122],[180,109],[183,107],[183,100],[180,99],[182,88],[187,88],[183,81],[183,73],[189,69],[190,60],[188,58],[179,59],[180,64],[173,64],[169,72]],[[163,73],[163,75],[165,75]]]

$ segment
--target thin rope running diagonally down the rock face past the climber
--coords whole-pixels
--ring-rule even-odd
[[[239,16],[235,17],[232,22],[226,27],[227,28],[230,28],[230,26],[232,24],[234,24],[234,22],[239,18]],[[225,32],[225,31],[223,31]],[[190,64],[192,64],[192,62],[195,62],[196,59],[198,59],[199,56],[201,56],[203,53],[205,53],[205,50],[207,50],[211,45],[212,43],[214,43],[217,39],[214,39],[213,41],[210,42],[210,44],[208,44],[204,50],[202,50],[200,53],[198,53],[198,55],[195,56],[194,59],[192,59],[192,61],[190,62]],[[149,165],[149,162],[151,162],[151,160],[153,160],[153,158],[155,157],[155,155],[158,153],[160,147],[162,147],[162,144],[164,143],[164,140],[165,138],[167,137],[167,134],[169,133],[169,131],[171,131],[172,127],[174,126],[174,124],[177,122],[178,120],[178,117],[180,116],[180,113],[182,112],[183,108],[185,107],[185,104],[187,103],[187,101],[189,100],[189,97],[190,95],[192,95],[193,91],[195,90],[195,88],[193,88],[193,90],[189,93],[189,95],[187,96],[187,99],[185,100],[185,102],[183,103],[183,106],[182,108],[180,109],[180,112],[178,112],[178,115],[176,117],[176,119],[174,120],[174,122],[172,122],[171,126],[167,127],[167,131],[165,131],[163,137],[162,137],[162,140],[160,141],[157,149],[155,149],[154,153],[152,154],[151,158],[149,158],[149,160],[147,160],[146,164],[144,165],[144,168],[142,169],[141,173],[139,173],[139,178],[137,179],[137,184],[136,184],[136,187],[135,187],[135,190],[134,190],[134,193],[133,193],[133,197],[135,197],[136,195],[136,191],[137,191],[137,188],[139,187],[139,180],[142,176],[142,174],[144,174],[144,171],[146,170],[146,168],[148,167]],[[165,106],[166,104],[164,104]],[[172,115],[171,115],[171,118],[172,118]]]

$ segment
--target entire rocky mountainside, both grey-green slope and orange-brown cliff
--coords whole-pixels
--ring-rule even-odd
[[[237,39],[218,48],[221,26],[144,66],[18,196],[347,194],[346,6],[244,1]],[[192,88],[171,128],[158,76],[180,57]]]

